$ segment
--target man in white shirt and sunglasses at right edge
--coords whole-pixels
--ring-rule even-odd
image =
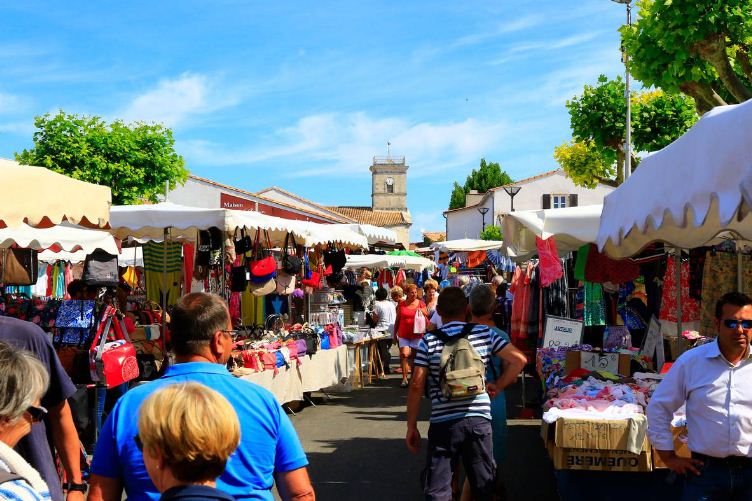
[[[661,459],[686,475],[684,499],[752,499],[752,298],[716,304],[718,338],[674,363],[648,405],[648,436]],[[691,458],[674,453],[671,419],[686,402]]]

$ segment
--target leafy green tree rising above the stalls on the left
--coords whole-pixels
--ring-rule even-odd
[[[172,131],[162,125],[107,124],[62,110],[36,117],[34,125],[34,147],[16,153],[16,160],[109,186],[113,204],[155,202],[165,183],[172,189],[188,178]]]

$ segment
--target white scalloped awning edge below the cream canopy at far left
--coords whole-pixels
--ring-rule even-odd
[[[103,230],[82,228],[67,222],[51,228],[34,228],[21,224],[15,228],[0,229],[0,248],[16,244],[19,247],[52,252],[82,251],[91,254],[102,249],[110,254],[118,254],[117,243],[112,235]]]

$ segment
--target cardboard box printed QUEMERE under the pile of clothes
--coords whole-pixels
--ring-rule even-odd
[[[543,422],[541,435],[558,470],[652,471],[653,461],[647,438],[640,454],[627,450],[626,420],[595,421],[560,418]]]

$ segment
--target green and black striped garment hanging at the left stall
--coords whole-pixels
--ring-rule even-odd
[[[167,254],[165,268],[165,245],[163,242],[147,242],[144,245],[144,271],[146,272],[146,298],[171,306],[180,298],[181,272],[183,265],[183,246],[177,242],[167,242]],[[166,274],[166,280],[164,277]],[[164,289],[164,284],[167,289]]]

